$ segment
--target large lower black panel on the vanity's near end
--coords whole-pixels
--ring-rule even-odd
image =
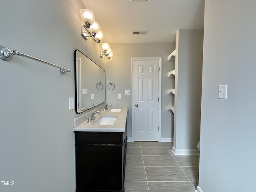
[[[123,146],[76,144],[76,192],[123,190]]]

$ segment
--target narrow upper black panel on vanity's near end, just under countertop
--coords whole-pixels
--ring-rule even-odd
[[[123,132],[75,132],[76,144],[123,144]]]

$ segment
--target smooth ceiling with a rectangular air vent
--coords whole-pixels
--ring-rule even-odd
[[[106,43],[175,42],[178,29],[204,28],[204,0],[82,0]],[[132,31],[147,30],[146,35]]]

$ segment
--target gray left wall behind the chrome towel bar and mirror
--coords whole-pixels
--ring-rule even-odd
[[[1,1],[0,44],[74,71],[79,49],[104,68],[80,34],[81,0]],[[0,60],[0,181],[3,192],[75,191],[74,72],[14,56]]]

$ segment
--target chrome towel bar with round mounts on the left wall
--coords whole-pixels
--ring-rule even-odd
[[[29,59],[32,59],[32,60],[35,60],[35,61],[47,64],[47,65],[50,65],[50,66],[53,66],[53,67],[57,67],[57,68],[60,69],[60,74],[62,74],[62,75],[65,74],[66,72],[72,72],[72,70],[70,70],[70,69],[67,69],[67,68],[64,68],[64,67],[61,67],[61,66],[58,66],[58,65],[46,62],[44,60],[40,60],[38,58],[35,58],[35,57],[32,57],[32,56],[23,54],[23,53],[21,53],[19,51],[16,51],[16,50],[12,51],[8,47],[0,45],[0,59],[8,61],[8,60],[11,60],[12,56],[14,56],[14,55],[26,57],[26,58],[29,58]]]

